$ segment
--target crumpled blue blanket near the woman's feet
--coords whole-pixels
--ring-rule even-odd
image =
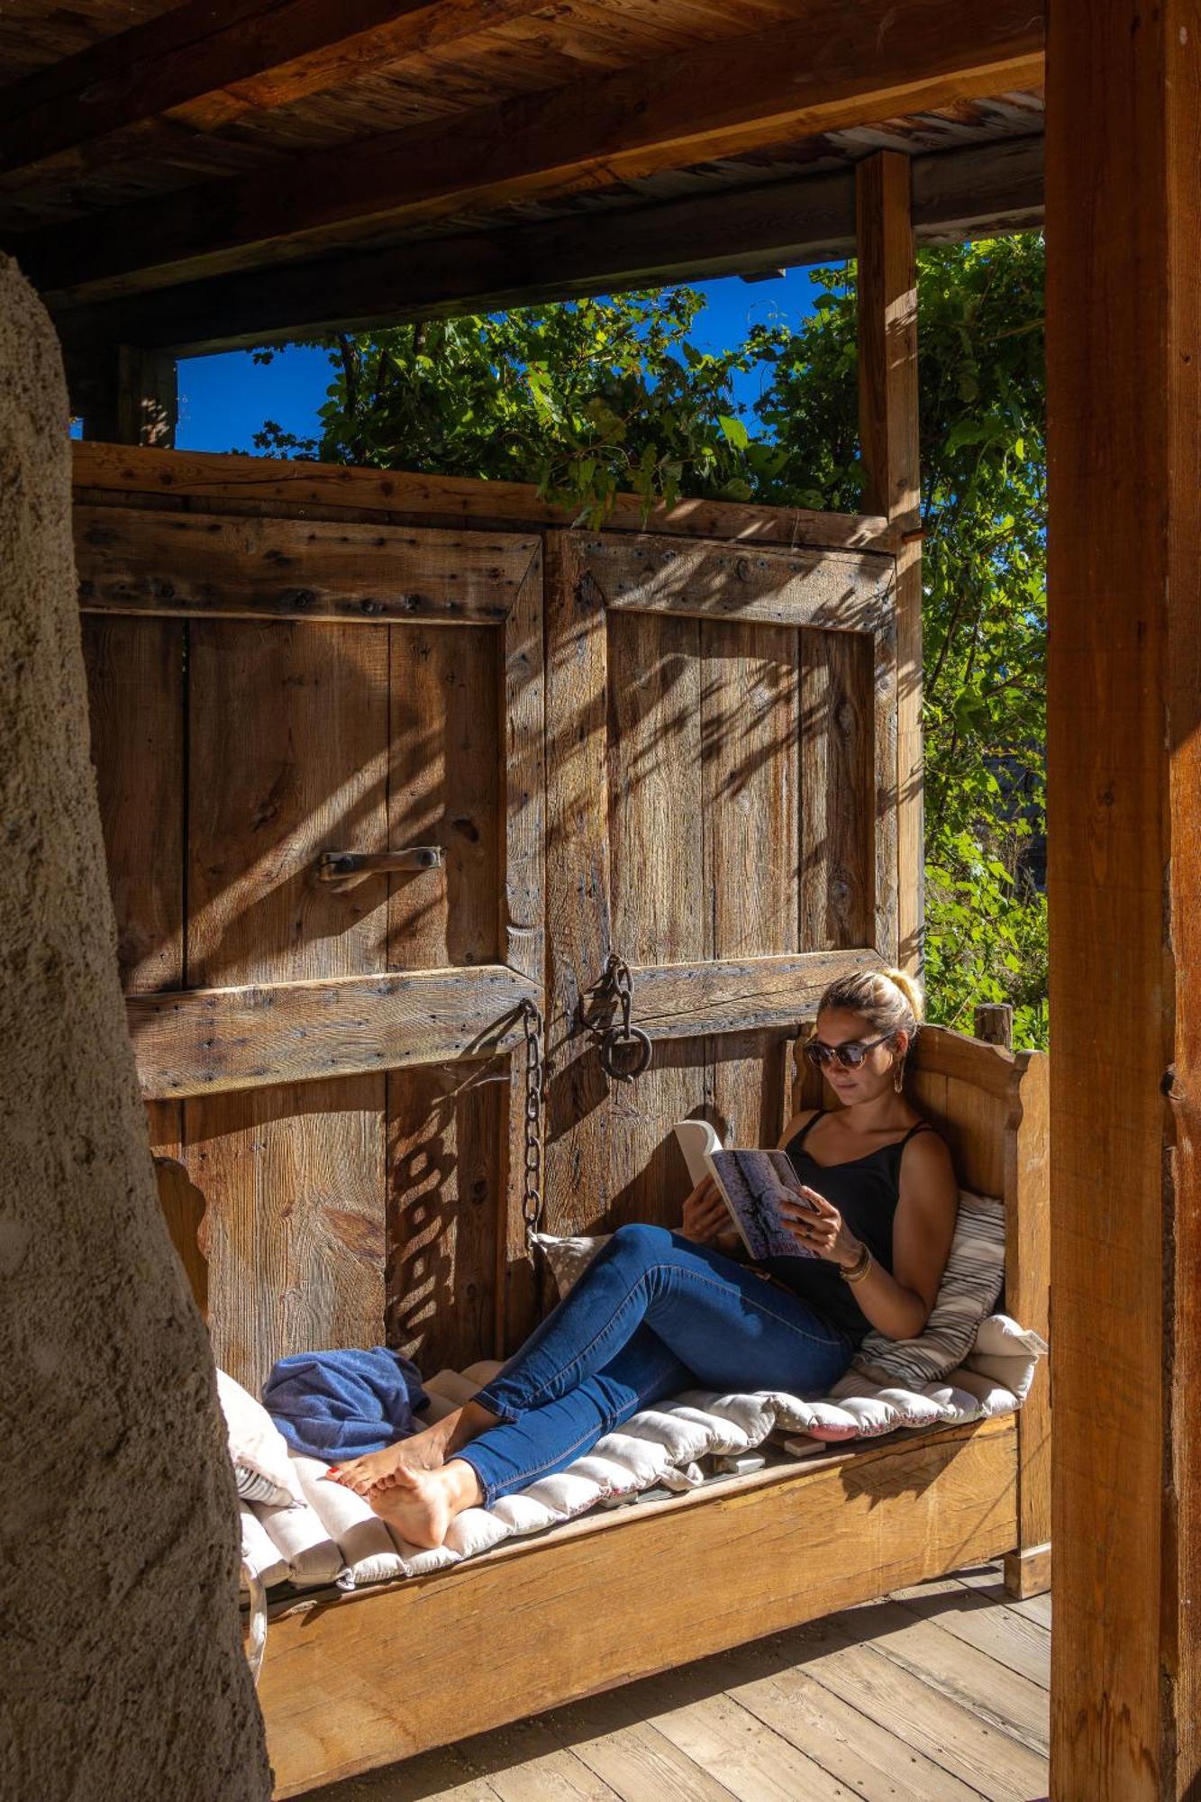
[[[263,1384],[263,1407],[289,1449],[337,1463],[415,1433],[426,1407],[417,1364],[371,1346],[370,1352],[296,1352],[281,1357]]]

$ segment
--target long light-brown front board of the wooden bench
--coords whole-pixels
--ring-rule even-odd
[[[682,1645],[703,1656],[990,1557],[1015,1528],[1012,1460],[1012,1422],[871,1447],[366,1591],[323,1609],[319,1631],[307,1611],[278,1618],[260,1683],[278,1795],[456,1737],[465,1670],[485,1730],[660,1670]],[[754,1557],[730,1557],[738,1544]],[[633,1613],[581,1607],[599,1573]],[[438,1658],[406,1658],[418,1643]]]

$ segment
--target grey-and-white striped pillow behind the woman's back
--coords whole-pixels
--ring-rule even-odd
[[[959,1218],[950,1256],[925,1328],[918,1339],[867,1333],[855,1357],[876,1382],[914,1389],[938,1382],[968,1355],[976,1328],[992,1314],[1004,1278],[1004,1202],[959,1191]]]

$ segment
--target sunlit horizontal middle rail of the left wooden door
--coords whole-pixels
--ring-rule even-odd
[[[135,995],[144,1096],[200,1096],[485,1058],[519,1042],[537,989],[503,964]]]

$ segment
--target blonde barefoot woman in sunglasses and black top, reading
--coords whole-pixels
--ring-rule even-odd
[[[958,1184],[943,1139],[903,1094],[921,997],[902,971],[826,991],[806,1054],[842,1103],[788,1123],[801,1179],[779,1215],[808,1256],[752,1263],[712,1177],[678,1233],[619,1227],[472,1402],[330,1474],[411,1544],[463,1508],[561,1470],[682,1389],[826,1395],[869,1328],[912,1339],[950,1251]]]

